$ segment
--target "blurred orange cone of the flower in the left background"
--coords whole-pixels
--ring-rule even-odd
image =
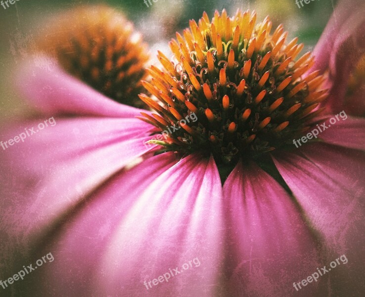
[[[42,40],[41,48],[52,51],[73,76],[119,102],[144,106],[135,98],[149,56],[133,24],[120,12],[100,5],[77,7],[61,14]]]

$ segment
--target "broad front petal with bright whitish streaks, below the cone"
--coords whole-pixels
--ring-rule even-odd
[[[213,158],[182,159],[146,188],[129,211],[102,261],[108,282],[100,279],[98,286],[118,295],[122,284],[124,294],[143,296],[144,281],[170,268],[182,271],[184,263],[196,259],[169,284],[153,286],[148,293],[182,296],[189,290],[197,296],[213,296],[221,255],[222,202]]]

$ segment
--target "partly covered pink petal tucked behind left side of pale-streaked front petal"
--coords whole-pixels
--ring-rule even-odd
[[[54,220],[46,228],[40,228],[44,242],[38,238],[35,247],[24,242],[23,250],[31,248],[31,262],[36,260],[33,258],[34,250],[39,253],[40,249],[44,249],[45,253],[51,252],[55,259],[53,263],[45,264],[42,270],[28,275],[29,278],[25,280],[29,281],[25,289],[28,295],[29,292],[40,290],[38,295],[34,293],[33,296],[41,296],[42,291],[53,292],[53,296],[95,296],[92,283],[99,277],[97,269],[100,259],[116,228],[144,188],[177,161],[173,153],[161,154],[118,173],[80,202],[73,212],[65,214],[64,221]],[[42,212],[48,215],[53,210],[45,207]],[[19,215],[27,215],[27,205],[24,205]],[[63,226],[62,222],[67,224]],[[13,234],[11,239],[14,241],[18,237],[29,238],[26,228]],[[17,293],[22,296],[20,292]]]

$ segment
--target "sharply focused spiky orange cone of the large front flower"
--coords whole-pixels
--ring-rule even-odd
[[[152,66],[152,81],[143,85],[162,104],[140,95],[157,111],[144,120],[165,131],[162,141],[150,143],[184,154],[206,151],[217,164],[234,164],[305,132],[327,96],[319,89],[324,77],[316,71],[303,79],[314,63],[311,52],[296,59],[303,49],[298,38],[286,43],[282,25],[271,34],[269,17],[255,21],[249,10],[231,18],[216,11],[212,21],[204,13],[170,42],[172,60],[159,52],[163,70]],[[197,120],[187,121],[192,114]],[[182,129],[166,133],[170,125]]]

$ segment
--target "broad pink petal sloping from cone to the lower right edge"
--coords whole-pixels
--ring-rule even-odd
[[[365,155],[326,144],[307,145],[296,153],[275,154],[274,162],[309,222],[328,247],[328,260],[342,254],[346,265],[333,269],[331,283],[343,295],[364,292]],[[344,293],[346,292],[346,294]]]

